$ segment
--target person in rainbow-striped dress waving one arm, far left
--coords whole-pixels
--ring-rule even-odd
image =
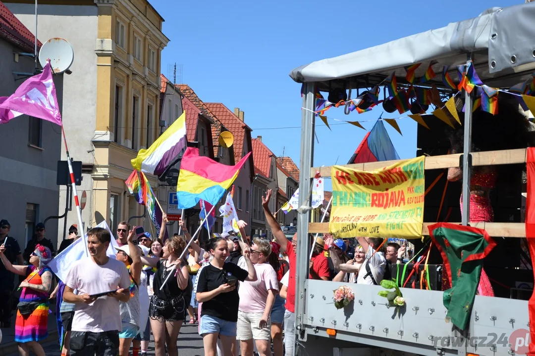
[[[47,263],[52,259],[48,247],[37,244],[29,258],[29,266],[14,266],[4,255],[5,246],[0,246],[0,259],[6,270],[26,279],[20,283],[15,341],[19,344],[19,354],[29,355],[30,349],[37,356],[44,356],[39,341],[48,337],[48,294],[52,284],[52,271]]]

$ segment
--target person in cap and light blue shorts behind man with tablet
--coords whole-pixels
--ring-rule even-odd
[[[119,356],[128,356],[132,340],[137,335],[140,327],[141,305],[140,305],[140,284],[141,284],[141,255],[140,250],[135,246],[133,240],[136,226],[129,231],[126,238],[127,244],[117,248],[116,259],[123,262],[128,269],[130,277],[130,298],[127,302],[119,301],[119,312],[123,331],[119,333]],[[147,306],[148,310],[148,306]],[[146,315],[148,318],[148,315]],[[143,320],[143,326],[146,320]],[[134,348],[133,354],[137,356],[139,347]]]

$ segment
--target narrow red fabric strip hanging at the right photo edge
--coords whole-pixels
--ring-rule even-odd
[[[526,240],[530,249],[531,263],[535,265],[535,148],[528,147],[528,195],[526,196]],[[535,270],[533,270],[535,276]],[[530,325],[535,325],[535,293],[528,302]],[[535,356],[535,328],[530,327],[528,356]]]

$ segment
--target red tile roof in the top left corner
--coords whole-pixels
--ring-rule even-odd
[[[35,36],[17,19],[15,15],[0,1],[0,37],[17,45],[26,52],[34,52]],[[42,43],[37,40],[37,50],[41,49]]]

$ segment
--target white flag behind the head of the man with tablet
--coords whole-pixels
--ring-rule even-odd
[[[119,247],[117,241],[113,237],[108,224],[106,221],[98,224],[95,227],[105,228],[110,232],[111,243],[106,250],[106,255],[110,258],[115,258],[116,250],[115,248]],[[71,265],[79,259],[82,259],[86,256],[89,256],[89,251],[87,249],[87,234],[73,243],[70,244],[65,250],[63,250],[59,255],[54,257],[49,263],[48,266],[58,276],[61,281],[65,281],[67,278],[68,271],[71,269]]]

